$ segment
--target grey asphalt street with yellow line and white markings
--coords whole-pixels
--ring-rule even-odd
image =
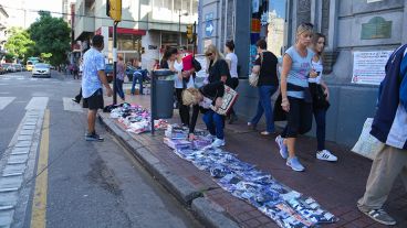
[[[200,227],[100,124],[105,142],[84,141],[79,88],[0,76],[0,227]]]

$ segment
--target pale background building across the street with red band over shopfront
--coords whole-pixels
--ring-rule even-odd
[[[117,53],[125,62],[142,61],[150,68],[166,46],[188,46],[186,24],[198,19],[198,0],[123,0],[117,28]],[[105,37],[105,56],[112,62],[113,21],[106,17],[106,1],[77,0],[74,39],[88,46],[94,34]]]

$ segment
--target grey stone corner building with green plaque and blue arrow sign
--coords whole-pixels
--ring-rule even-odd
[[[223,50],[225,41],[234,40],[241,77],[237,109],[248,119],[257,106],[257,90],[246,79],[255,41],[267,39],[268,50],[281,57],[303,22],[327,37],[327,140],[353,145],[366,118],[374,116],[388,55],[407,42],[406,0],[201,0],[198,50],[209,43]]]

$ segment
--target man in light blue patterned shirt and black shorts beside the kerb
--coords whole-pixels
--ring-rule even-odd
[[[105,74],[105,59],[103,50],[103,36],[95,35],[92,39],[92,48],[83,56],[82,96],[83,107],[88,108],[86,141],[103,141],[95,131],[97,109],[103,109],[102,84],[106,87],[106,94],[112,96],[113,91],[107,83]]]

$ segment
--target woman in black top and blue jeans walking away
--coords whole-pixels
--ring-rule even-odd
[[[254,117],[248,122],[248,126],[255,128],[260,121],[261,116],[265,117],[267,129],[262,131],[262,135],[269,135],[274,132],[273,110],[271,106],[271,96],[279,88],[279,78],[276,76],[278,58],[267,51],[267,43],[264,40],[259,40],[255,43],[258,47],[259,57],[255,59],[253,73],[259,75],[258,91],[259,102]]]

